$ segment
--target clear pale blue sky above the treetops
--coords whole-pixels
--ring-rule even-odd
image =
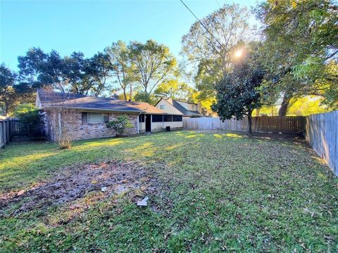
[[[256,0],[184,1],[199,18],[225,2],[254,6]],[[181,37],[195,22],[175,1],[3,1],[0,0],[0,63],[17,70],[28,48],[55,49],[61,56],[90,57],[113,41],[156,41],[178,56]]]

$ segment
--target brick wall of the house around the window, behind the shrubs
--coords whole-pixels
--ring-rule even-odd
[[[125,114],[125,113],[121,113]],[[48,115],[48,112],[47,112]],[[120,115],[119,113],[109,113],[109,121],[115,119]],[[127,129],[124,135],[134,135],[137,134],[137,114],[125,114],[129,117],[130,122],[134,125],[132,129]],[[60,132],[58,126],[58,117],[52,117],[49,115],[49,122],[51,128],[49,128],[50,138],[53,141],[58,140],[58,135]],[[61,122],[62,127],[61,131],[68,131],[73,140],[86,140],[91,138],[105,138],[105,137],[114,137],[115,130],[108,129],[106,123],[84,123],[82,124],[82,112],[63,112],[61,113]],[[63,130],[66,129],[66,130]]]

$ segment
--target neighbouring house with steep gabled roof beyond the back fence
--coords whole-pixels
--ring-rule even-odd
[[[173,98],[161,98],[155,106],[167,113],[180,113],[183,117],[202,116],[201,103],[192,103]]]

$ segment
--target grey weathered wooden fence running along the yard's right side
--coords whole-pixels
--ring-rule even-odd
[[[338,176],[338,110],[306,117],[306,141]]]

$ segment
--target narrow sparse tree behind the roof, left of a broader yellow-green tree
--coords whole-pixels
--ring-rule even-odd
[[[132,85],[132,64],[130,60],[130,48],[124,41],[118,41],[105,49],[111,63],[111,75],[115,77],[123,90],[123,97],[127,100],[127,87]],[[130,90],[132,87],[130,87]],[[130,99],[132,92],[130,92]]]

